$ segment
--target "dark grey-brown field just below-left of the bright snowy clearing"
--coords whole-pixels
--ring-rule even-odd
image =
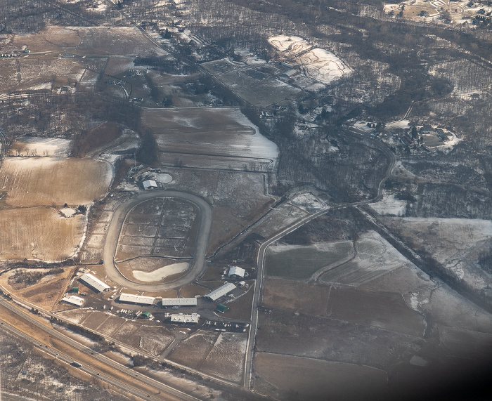
[[[299,88],[228,59],[210,61],[202,66],[240,98],[257,107],[268,107],[294,98],[300,92]]]

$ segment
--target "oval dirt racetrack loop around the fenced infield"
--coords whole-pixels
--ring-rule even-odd
[[[174,197],[184,199],[198,206],[200,210],[200,221],[198,223],[198,235],[195,243],[195,258],[192,268],[178,280],[174,280],[169,283],[162,284],[143,284],[134,282],[124,277],[115,265],[115,253],[118,244],[119,233],[122,230],[124,219],[131,209],[142,202],[150,199],[160,197]],[[110,280],[129,289],[136,289],[138,291],[164,291],[167,289],[174,289],[182,287],[196,280],[202,272],[205,270],[205,254],[207,252],[207,244],[210,235],[210,228],[212,227],[212,208],[205,201],[205,199],[192,195],[188,192],[181,192],[176,190],[153,190],[149,192],[143,192],[141,195],[129,199],[127,202],[119,205],[112,216],[110,226],[108,228],[108,234],[103,249],[104,270]]]

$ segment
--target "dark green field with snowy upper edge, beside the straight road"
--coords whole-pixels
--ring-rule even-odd
[[[306,280],[317,270],[347,258],[352,251],[350,241],[309,246],[270,246],[266,251],[266,274],[273,277]]]

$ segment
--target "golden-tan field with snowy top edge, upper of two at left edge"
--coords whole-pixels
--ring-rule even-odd
[[[112,169],[106,162],[54,157],[7,157],[0,187],[11,206],[89,204],[108,190]]]

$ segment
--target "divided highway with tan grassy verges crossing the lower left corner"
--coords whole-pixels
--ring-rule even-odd
[[[196,400],[195,397],[181,393],[179,390],[165,386],[143,375],[138,375],[138,379],[135,379],[133,377],[134,372],[130,371],[131,374],[129,374],[128,368],[103,355],[97,353],[91,355],[93,351],[90,348],[67,338],[49,327],[46,322],[23,313],[3,299],[0,299],[0,320],[18,329],[23,334],[23,338],[27,338],[29,341],[38,341],[44,346],[55,349],[59,354],[63,354],[68,359],[75,360],[96,372],[96,376],[99,374],[101,379],[107,377],[110,384],[133,391],[131,394],[138,395],[138,397],[152,394],[146,399]],[[103,374],[102,377],[101,374]]]

